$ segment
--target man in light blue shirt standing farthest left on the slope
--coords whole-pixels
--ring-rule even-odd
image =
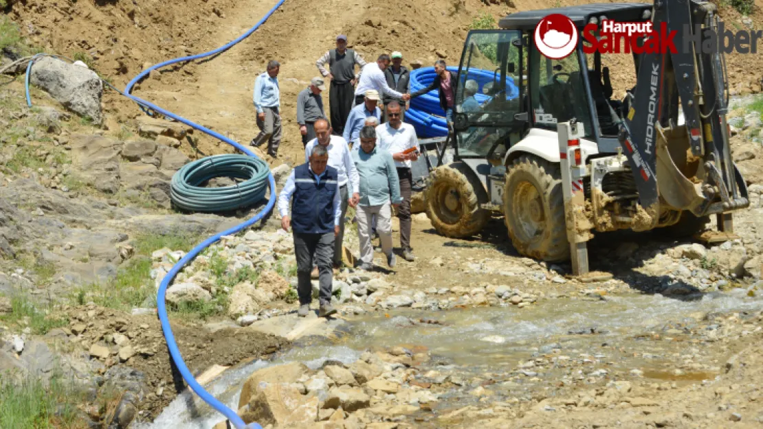
[[[268,142],[268,155],[278,156],[281,144],[281,91],[278,88],[278,70],[281,64],[275,59],[268,62],[268,69],[254,82],[254,107],[257,109],[259,134],[250,143],[254,147]]]

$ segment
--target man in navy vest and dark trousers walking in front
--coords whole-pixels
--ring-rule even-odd
[[[286,181],[278,196],[281,226],[294,232],[294,251],[297,257],[297,293],[300,317],[310,312],[313,288],[310,273],[316,261],[320,283],[320,311],[326,317],[336,313],[331,306],[333,283],[332,260],[334,238],[339,234],[342,207],[337,184],[336,168],[327,165],[329,153],[324,146],[315,145],[309,162],[299,165]],[[291,201],[291,217],[289,202]]]

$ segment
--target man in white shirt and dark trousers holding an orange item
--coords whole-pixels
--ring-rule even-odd
[[[376,127],[377,145],[379,149],[392,154],[394,165],[398,169],[400,180],[400,194],[403,202],[398,207],[398,219],[400,219],[400,245],[403,250],[403,258],[406,261],[414,261],[413,249],[410,248],[410,188],[413,175],[410,172],[410,162],[419,158],[418,150],[403,153],[407,149],[419,147],[416,130],[410,123],[404,123],[401,119],[401,106],[397,101],[392,101],[387,106],[388,123]]]

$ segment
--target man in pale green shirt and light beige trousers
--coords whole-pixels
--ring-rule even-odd
[[[360,269],[373,269],[371,223],[374,217],[381,251],[387,256],[387,266],[394,267],[391,206],[399,206],[403,198],[400,195],[398,169],[394,165],[392,155],[376,147],[376,130],[373,126],[363,126],[360,130],[360,148],[353,150],[353,161],[360,176],[360,202],[356,207]]]

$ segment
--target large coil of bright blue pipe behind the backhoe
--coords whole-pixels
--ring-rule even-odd
[[[451,72],[458,72],[458,67],[448,67]],[[423,67],[410,72],[409,91],[415,92],[427,88],[435,78],[434,67]],[[490,96],[483,94],[485,85],[493,83],[495,78],[494,71],[483,69],[469,69],[468,75],[459,76],[459,86],[462,86],[467,79],[475,80],[479,89],[475,94],[475,99],[479,104],[485,104],[491,99]],[[506,78],[506,99],[511,100],[519,95],[519,88],[514,85],[513,78]],[[419,137],[443,137],[448,135],[448,123],[445,119],[445,111],[439,105],[439,91],[433,89],[427,94],[420,95],[417,98],[410,99],[410,109],[405,112],[405,122],[410,123],[416,129]]]

